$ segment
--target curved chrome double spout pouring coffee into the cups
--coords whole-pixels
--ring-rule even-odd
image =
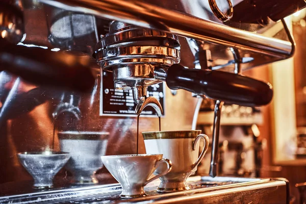
[[[154,110],[156,111],[156,114],[158,117],[161,117],[163,115],[163,108],[161,104],[159,103],[158,99],[155,97],[142,97],[136,106],[136,114],[140,115],[143,109],[147,106],[153,107]]]

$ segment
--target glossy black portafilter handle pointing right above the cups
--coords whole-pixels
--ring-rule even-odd
[[[264,106],[273,97],[269,83],[225,71],[188,69],[180,64],[169,67],[166,83],[170,89],[184,89],[240,106]]]

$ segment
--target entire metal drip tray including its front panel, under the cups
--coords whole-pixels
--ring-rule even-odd
[[[0,197],[0,203],[286,203],[287,181],[281,179],[246,179],[236,177],[190,177],[191,190],[158,193],[159,181],[145,187],[146,197],[120,198],[119,184],[49,190]],[[266,199],[270,201],[267,202]],[[284,201],[284,202],[283,202]],[[275,203],[275,202],[274,202]]]

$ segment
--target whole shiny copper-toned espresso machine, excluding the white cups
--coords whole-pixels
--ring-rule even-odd
[[[286,179],[218,176],[219,127],[224,103],[270,103],[272,86],[243,70],[293,56],[284,18],[304,7],[304,0],[1,0],[0,203],[289,203]],[[279,24],[287,39],[269,36]],[[140,132],[158,130],[157,116],[161,130],[194,130],[203,98],[214,104],[209,175],[190,177],[188,191],[161,194],[152,182],[146,197],[119,198],[121,186],[96,157],[145,152],[137,115]],[[72,156],[53,188],[33,189],[18,152],[64,144]]]

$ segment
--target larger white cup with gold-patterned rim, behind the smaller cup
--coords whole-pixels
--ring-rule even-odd
[[[163,154],[172,162],[172,170],[160,177],[158,192],[189,190],[187,178],[196,171],[209,145],[207,135],[201,131],[161,131],[143,132],[146,154]],[[204,139],[204,147],[199,156],[199,140]],[[155,173],[166,168],[159,166]]]

